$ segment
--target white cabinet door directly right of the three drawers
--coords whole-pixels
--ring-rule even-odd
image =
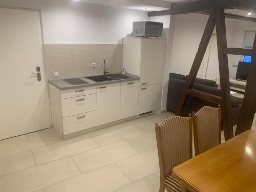
[[[97,124],[120,120],[120,82],[97,86]]]

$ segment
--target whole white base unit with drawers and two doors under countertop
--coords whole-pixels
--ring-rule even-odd
[[[63,139],[140,117],[139,80],[49,89],[53,129]]]

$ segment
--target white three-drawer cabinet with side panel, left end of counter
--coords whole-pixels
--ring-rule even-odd
[[[49,84],[53,129],[63,136],[97,126],[96,86],[59,90]]]

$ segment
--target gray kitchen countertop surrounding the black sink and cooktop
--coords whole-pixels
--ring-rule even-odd
[[[132,78],[130,79],[120,79],[120,80],[112,80],[112,81],[103,81],[103,82],[95,82],[93,80],[90,80],[86,77],[73,77],[73,78],[79,78],[84,81],[87,81],[87,84],[79,84],[73,86],[72,84],[63,81],[64,79],[70,79],[70,78],[62,78],[62,79],[51,79],[49,80],[49,83],[58,88],[59,90],[67,90],[67,89],[76,89],[76,88],[84,88],[84,87],[90,87],[90,86],[100,86],[102,84],[110,84],[115,82],[123,82],[123,81],[133,81],[133,80],[139,80],[140,77],[133,74],[125,74],[126,76],[130,76]]]

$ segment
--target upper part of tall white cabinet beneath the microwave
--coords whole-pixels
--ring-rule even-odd
[[[123,38],[123,68],[140,76],[140,86],[163,82],[166,39]]]

